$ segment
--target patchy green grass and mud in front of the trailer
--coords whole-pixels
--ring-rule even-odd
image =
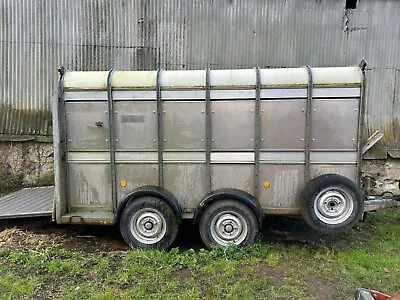
[[[210,251],[3,247],[0,299],[352,299],[361,286],[394,293],[399,221],[393,209],[371,214],[339,238]]]

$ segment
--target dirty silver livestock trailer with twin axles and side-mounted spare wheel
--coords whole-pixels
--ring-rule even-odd
[[[165,249],[182,219],[207,246],[247,245],[264,215],[337,233],[366,210],[358,66],[60,74],[58,223]]]

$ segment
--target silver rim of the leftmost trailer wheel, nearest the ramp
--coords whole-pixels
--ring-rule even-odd
[[[159,242],[167,231],[164,216],[156,209],[144,208],[133,215],[131,232],[143,244]]]

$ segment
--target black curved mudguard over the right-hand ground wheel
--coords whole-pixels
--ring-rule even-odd
[[[216,190],[216,191],[208,194],[207,197],[204,198],[199,203],[199,205],[197,205],[197,207],[194,211],[193,222],[195,224],[198,223],[199,217],[201,216],[201,214],[204,211],[204,208],[206,208],[207,205],[209,205],[210,203],[212,203],[214,201],[218,201],[218,200],[222,200],[222,199],[237,200],[237,201],[247,205],[255,214],[260,227],[262,226],[264,215],[261,210],[260,203],[257,201],[256,198],[254,198],[249,193],[246,193],[246,192],[238,190],[238,189],[219,189],[219,190]]]

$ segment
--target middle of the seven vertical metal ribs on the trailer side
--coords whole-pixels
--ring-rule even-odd
[[[206,191],[211,192],[211,83],[210,68],[206,70]]]

